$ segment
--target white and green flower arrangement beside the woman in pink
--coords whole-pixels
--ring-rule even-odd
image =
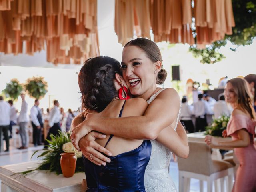
[[[229,117],[222,115],[218,119],[214,119],[212,124],[206,127],[205,135],[222,137],[222,132],[227,128]]]

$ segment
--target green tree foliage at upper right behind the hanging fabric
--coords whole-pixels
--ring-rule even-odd
[[[213,42],[205,49],[198,49],[196,45],[190,46],[193,56],[200,57],[201,63],[213,64],[225,56],[219,52],[220,47],[226,46],[230,41],[236,48],[252,44],[256,38],[256,2],[252,0],[232,0],[234,20],[236,26],[232,28],[232,35],[226,35],[223,40]],[[195,30],[196,32],[196,30]],[[235,51],[236,48],[230,47]]]

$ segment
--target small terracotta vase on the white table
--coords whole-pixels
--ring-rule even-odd
[[[72,177],[76,170],[76,154],[62,153],[60,154],[60,167],[64,177]]]

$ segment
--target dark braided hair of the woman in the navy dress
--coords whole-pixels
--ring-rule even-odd
[[[115,74],[122,75],[120,63],[111,57],[99,56],[84,62],[78,75],[82,93],[82,111],[101,112],[117,96]]]

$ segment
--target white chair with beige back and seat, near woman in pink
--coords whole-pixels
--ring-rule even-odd
[[[226,180],[227,192],[232,190],[234,166],[222,160],[212,160],[211,149],[204,142],[189,142],[187,159],[178,158],[179,191],[189,191],[190,178],[200,180],[200,192],[203,191],[203,181],[207,181],[207,192],[212,192],[213,182],[215,191],[218,190],[217,179],[220,179],[220,191],[224,191]],[[225,177],[227,177],[225,179]]]

